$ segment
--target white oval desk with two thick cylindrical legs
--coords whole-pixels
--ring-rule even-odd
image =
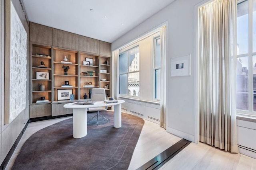
[[[81,138],[87,135],[87,108],[92,107],[105,107],[114,106],[114,127],[121,127],[121,104],[124,100],[118,100],[118,103],[106,104],[102,102],[96,102],[94,104],[87,105],[73,105],[74,103],[65,104],[64,107],[73,109],[73,137]]]

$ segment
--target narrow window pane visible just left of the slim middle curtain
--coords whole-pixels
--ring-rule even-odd
[[[161,67],[161,41],[160,37],[154,38],[154,100],[160,101],[160,67]]]

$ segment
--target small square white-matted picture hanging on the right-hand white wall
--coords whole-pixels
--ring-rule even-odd
[[[170,76],[190,76],[190,54],[170,59]]]

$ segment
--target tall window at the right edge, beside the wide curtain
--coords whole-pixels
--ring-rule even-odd
[[[236,108],[256,115],[256,0],[238,1]]]

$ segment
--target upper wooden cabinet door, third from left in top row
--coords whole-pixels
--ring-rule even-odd
[[[79,50],[100,54],[100,40],[79,35]]]

